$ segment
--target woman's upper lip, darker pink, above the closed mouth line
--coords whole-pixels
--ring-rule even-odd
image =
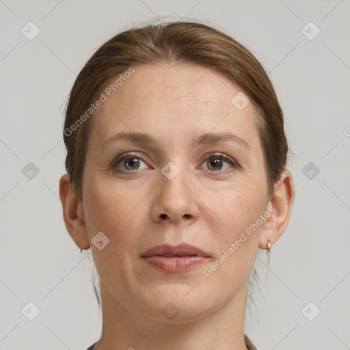
[[[204,256],[208,258],[208,254],[200,250],[200,248],[195,247],[194,245],[189,244],[180,244],[180,245],[156,245],[155,247],[146,250],[143,257],[148,256]]]

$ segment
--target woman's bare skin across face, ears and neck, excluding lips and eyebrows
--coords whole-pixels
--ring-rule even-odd
[[[59,195],[66,228],[78,247],[91,247],[100,277],[103,331],[96,349],[246,349],[245,303],[255,254],[284,232],[295,193],[285,170],[268,196],[254,106],[237,109],[231,99],[238,92],[239,86],[209,68],[135,66],[94,114],[83,200],[75,197],[68,174]],[[156,142],[101,146],[122,131],[147,133]],[[232,141],[191,146],[192,137],[226,131],[250,148]],[[142,156],[136,157],[139,167],[129,159],[116,167],[124,172],[111,170],[125,152]],[[170,161],[180,170],[172,180],[161,172]],[[273,214],[264,224],[211,276],[204,275],[268,208]],[[109,238],[103,250],[92,243],[97,232]],[[163,243],[189,243],[210,258],[189,271],[159,271],[142,254]],[[162,312],[170,302],[179,311],[173,319]]]

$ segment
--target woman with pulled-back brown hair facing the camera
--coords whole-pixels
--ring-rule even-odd
[[[77,77],[64,142],[64,221],[100,280],[89,350],[256,349],[248,280],[295,193],[282,110],[252,53],[200,23],[119,33]]]

